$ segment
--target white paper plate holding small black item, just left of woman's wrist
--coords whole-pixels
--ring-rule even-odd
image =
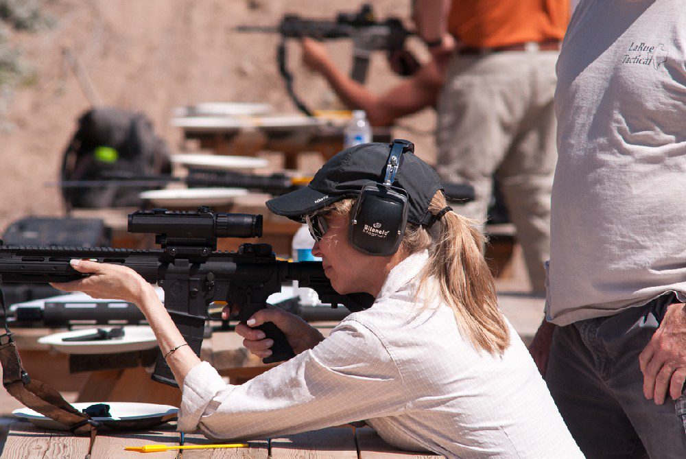
[[[110,330],[115,327],[110,327],[108,325],[99,328]],[[113,340],[62,341],[62,338],[90,335],[91,333],[97,332],[97,328],[93,328],[53,333],[52,335],[38,338],[38,342],[40,344],[53,346],[56,350],[65,354],[112,354],[145,351],[145,349],[152,349],[157,346],[155,335],[152,333],[152,329],[147,327],[147,325],[128,325],[123,327],[123,329],[124,336]]]

